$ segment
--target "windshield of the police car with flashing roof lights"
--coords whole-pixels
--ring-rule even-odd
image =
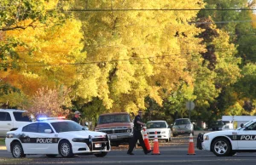
[[[51,122],[51,125],[57,133],[84,131],[84,128],[77,122]]]

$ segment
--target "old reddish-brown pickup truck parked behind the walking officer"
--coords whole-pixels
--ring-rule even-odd
[[[108,134],[113,146],[128,145],[133,136],[133,122],[127,112],[102,114],[95,131]]]

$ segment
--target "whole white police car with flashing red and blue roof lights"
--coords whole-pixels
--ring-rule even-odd
[[[38,122],[9,131],[5,144],[15,158],[34,154],[48,157],[94,154],[102,157],[111,150],[108,134],[85,131],[77,122],[60,118],[40,118]]]

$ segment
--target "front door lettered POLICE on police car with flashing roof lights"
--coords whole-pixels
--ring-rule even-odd
[[[58,153],[58,139],[55,138],[55,132],[47,122],[38,122],[37,150],[41,154]]]

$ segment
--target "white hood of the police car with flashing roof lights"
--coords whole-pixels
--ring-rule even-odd
[[[73,132],[62,132],[59,133],[59,137],[70,137],[70,138],[89,138],[89,135],[92,136],[92,138],[100,138],[105,133],[102,132],[94,132],[94,131],[73,131]]]

